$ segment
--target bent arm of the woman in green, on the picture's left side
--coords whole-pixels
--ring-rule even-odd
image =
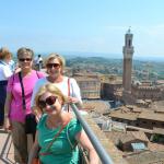
[[[38,156],[39,145],[38,145],[37,137],[38,137],[38,132],[36,131],[35,142],[34,142],[32,150],[30,152],[27,164],[32,164],[33,159]]]

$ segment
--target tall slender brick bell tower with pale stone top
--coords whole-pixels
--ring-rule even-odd
[[[133,35],[130,32],[130,28],[125,35],[125,46],[122,47],[124,52],[124,70],[122,70],[122,87],[124,94],[131,94],[131,71],[132,71],[132,56],[133,56],[133,46],[132,46]]]

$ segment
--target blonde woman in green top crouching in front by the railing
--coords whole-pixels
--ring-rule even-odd
[[[44,164],[78,164],[78,143],[87,150],[90,164],[98,164],[98,156],[79,120],[62,110],[68,102],[69,97],[51,83],[43,85],[36,93],[35,104],[43,112],[43,117],[37,125],[28,164],[32,164],[36,155]]]

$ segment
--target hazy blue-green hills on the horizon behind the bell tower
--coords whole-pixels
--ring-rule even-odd
[[[122,74],[122,59],[112,59],[104,57],[67,57],[67,66],[99,72],[105,74]],[[133,60],[132,61],[133,70],[138,72],[150,72],[152,74],[159,74],[159,79],[164,79],[164,61],[144,61],[144,60]]]

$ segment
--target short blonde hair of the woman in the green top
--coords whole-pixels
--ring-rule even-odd
[[[35,104],[37,107],[39,107],[38,102],[39,102],[40,96],[44,95],[46,92],[57,95],[62,101],[62,104],[68,103],[68,97],[65,96],[62,92],[55,84],[48,83],[46,85],[43,85],[39,89],[39,91],[36,93]]]

